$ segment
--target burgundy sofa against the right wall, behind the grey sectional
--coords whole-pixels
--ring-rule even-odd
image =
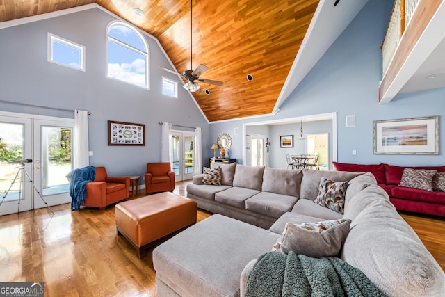
[[[377,183],[389,195],[398,210],[414,211],[421,214],[445,216],[445,192],[426,191],[399,186],[405,167],[380,164],[350,164],[332,162],[337,171],[371,172]],[[445,172],[445,166],[407,167],[413,169],[433,169]]]

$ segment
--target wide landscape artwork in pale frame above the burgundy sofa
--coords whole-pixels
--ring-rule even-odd
[[[374,154],[439,154],[439,116],[374,121]]]

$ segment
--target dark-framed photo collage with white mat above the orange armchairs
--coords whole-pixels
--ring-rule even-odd
[[[108,145],[145,145],[145,125],[109,120]]]

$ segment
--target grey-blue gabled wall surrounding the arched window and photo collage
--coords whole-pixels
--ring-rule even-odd
[[[178,99],[162,95],[162,76],[177,77],[159,70],[170,63],[154,38],[143,34],[150,50],[150,90],[106,78],[106,27],[114,20],[92,8],[0,29],[0,100],[90,111],[90,164],[106,166],[109,175],[143,175],[147,162],[161,160],[159,122],[202,127],[203,147],[210,147],[209,124],[189,93],[178,88]],[[47,62],[48,32],[86,46],[86,72]],[[73,112],[3,102],[0,111],[74,118]],[[146,145],[108,146],[107,120],[145,124]],[[204,156],[210,152],[204,150]]]

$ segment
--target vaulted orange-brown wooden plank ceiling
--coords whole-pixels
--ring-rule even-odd
[[[158,38],[179,72],[192,69],[188,0],[3,0],[0,22],[89,3]],[[210,95],[192,93],[209,122],[273,111],[317,6],[318,0],[193,0],[193,69],[205,64],[201,78],[224,81],[200,83]]]

